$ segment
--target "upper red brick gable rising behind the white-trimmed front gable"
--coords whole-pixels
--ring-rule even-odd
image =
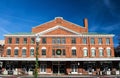
[[[76,31],[78,33],[88,32],[88,27],[80,26],[80,25],[74,24],[72,22],[66,21],[62,17],[56,17],[52,21],[49,21],[47,23],[33,27],[32,32],[39,33],[39,32],[45,31],[45,30],[52,28],[54,26],[57,26],[57,25],[69,28],[69,29]]]

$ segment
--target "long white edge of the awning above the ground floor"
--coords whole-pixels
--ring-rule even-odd
[[[120,58],[38,58],[39,61],[120,61]],[[35,58],[0,57],[0,61],[35,61]]]

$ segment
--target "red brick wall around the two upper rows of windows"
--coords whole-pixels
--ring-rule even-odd
[[[7,47],[11,47],[11,57],[14,56],[14,48],[15,47],[19,47],[19,57],[22,56],[22,47],[26,47],[27,48],[27,56],[26,57],[29,57],[30,56],[30,47],[36,47],[36,44],[30,44],[30,38],[31,37],[28,37],[28,43],[27,44],[23,44],[23,37],[20,38],[20,43],[19,44],[15,44],[15,37],[12,37],[12,44],[5,44],[5,50],[4,50],[4,56],[6,56],[6,49]],[[92,37],[93,38],[93,37]],[[6,37],[7,39],[7,37]],[[90,40],[90,39],[88,39]],[[51,37],[48,37],[47,38],[47,44],[42,44],[40,42],[40,45],[39,45],[39,56],[41,56],[41,48],[42,47],[46,47],[46,57],[51,57],[52,56],[52,46],[65,46],[66,47],[66,57],[70,58],[70,57],[73,57],[71,55],[71,48],[72,47],[76,47],[76,57],[78,58],[81,58],[81,57],[84,57],[83,56],[83,48],[86,47],[88,48],[88,56],[87,57],[92,57],[91,56],[91,48],[92,47],[95,47],[96,49],[96,56],[95,57],[99,57],[99,52],[98,52],[98,49],[99,47],[102,47],[104,49],[104,56],[103,57],[107,57],[107,53],[106,53],[106,48],[107,47],[110,47],[111,48],[111,52],[112,52],[112,57],[114,57],[114,48],[113,48],[113,42],[112,42],[112,38],[110,38],[111,40],[111,43],[110,45],[106,45],[106,38],[103,38],[103,44],[99,45],[98,44],[98,37],[95,38],[95,44],[90,44],[90,43],[87,43],[86,45],[82,43],[82,38],[81,37],[77,37],[76,38],[76,44],[71,44],[71,37],[67,37],[66,38],[66,44],[52,44],[52,38]],[[87,41],[89,42],[89,41]],[[42,56],[41,56],[42,57]]]

